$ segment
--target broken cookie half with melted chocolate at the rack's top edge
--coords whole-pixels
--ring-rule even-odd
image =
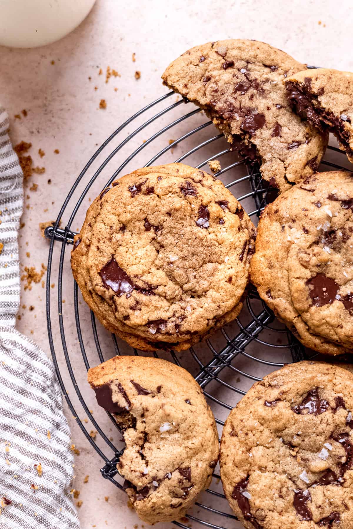
[[[305,66],[264,42],[224,40],[185,52],[162,79],[203,108],[232,148],[261,163],[261,174],[280,191],[315,171],[328,142],[295,115],[283,79]]]

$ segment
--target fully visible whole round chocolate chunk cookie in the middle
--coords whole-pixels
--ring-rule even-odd
[[[144,351],[179,351],[239,314],[254,240],[219,180],[171,163],[102,191],[75,236],[71,267],[108,330]]]

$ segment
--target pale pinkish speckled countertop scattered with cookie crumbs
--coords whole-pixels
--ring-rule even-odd
[[[225,4],[210,0],[184,3],[132,0],[124,4],[98,0],[79,28],[59,42],[33,50],[0,47],[0,102],[10,114],[13,143],[31,142],[28,154],[34,166],[45,168],[44,173],[33,174],[25,183],[24,225],[20,230],[22,269],[33,266],[40,271],[41,263],[46,264],[49,243],[42,238],[39,223],[55,220],[68,189],[97,145],[127,117],[167,92],[160,75],[171,60],[202,42],[250,38],[269,42],[309,64],[352,70],[350,4],[349,0],[342,0],[339,5],[331,0],[242,0]],[[106,83],[108,66],[119,76],[111,76]],[[135,78],[135,71],[141,72],[139,79]],[[101,99],[106,101],[105,109],[99,108]],[[22,110],[27,111],[26,116]],[[164,139],[158,147],[165,145]],[[42,158],[39,149],[45,153]],[[123,159],[120,157],[116,163]],[[145,156],[143,163],[148,159]],[[88,194],[90,199],[104,181]],[[37,189],[33,184],[38,185]],[[74,230],[80,227],[76,223],[72,226]],[[54,276],[57,255],[55,259]],[[72,298],[68,256],[65,263],[67,286],[63,297]],[[41,286],[45,279],[44,273],[31,290],[24,290],[26,281],[22,281],[21,305],[26,308],[20,310],[18,328],[49,354],[45,290]],[[56,287],[54,277],[53,294]],[[30,306],[34,308],[30,310]],[[89,322],[83,321],[82,325],[85,327]],[[58,339],[57,325],[53,325],[53,333]],[[74,321],[68,321],[66,333],[69,350],[79,355]],[[77,364],[74,359],[73,365],[75,373],[82,370],[82,358],[80,363],[77,359]],[[63,373],[67,380],[67,371]],[[85,386],[82,389],[88,405],[93,407],[90,389]],[[79,508],[82,527],[132,529],[135,524],[141,527],[137,516],[126,506],[126,497],[101,478],[101,459],[80,432],[67,406],[65,409],[73,443],[79,450],[74,487],[80,490],[79,499],[83,502]],[[80,418],[85,419],[83,409],[79,405],[77,409]],[[83,424],[89,431],[90,425]],[[84,483],[86,475],[89,478]],[[234,522],[229,525],[225,519],[224,524],[234,527]],[[193,527],[196,525],[192,522]]]

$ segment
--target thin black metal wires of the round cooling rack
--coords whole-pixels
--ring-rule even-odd
[[[46,237],[50,239],[50,246],[49,246],[49,256],[48,256],[48,273],[47,273],[47,285],[46,285],[46,312],[47,312],[47,326],[48,326],[48,336],[49,336],[49,344],[50,344],[50,350],[52,354],[52,359],[55,364],[57,377],[59,380],[59,384],[61,386],[62,392],[64,394],[64,397],[66,399],[67,405],[73,414],[74,417],[76,417],[77,424],[81,428],[82,432],[86,436],[89,443],[93,446],[93,448],[97,451],[97,453],[100,455],[102,460],[104,461],[104,467],[101,469],[102,475],[104,478],[110,480],[114,483],[117,487],[122,489],[122,485],[119,481],[116,480],[117,470],[116,470],[116,463],[119,461],[120,455],[123,450],[117,450],[114,444],[111,442],[110,439],[108,439],[107,434],[104,432],[103,428],[99,426],[98,422],[94,418],[93,414],[89,411],[88,406],[82,396],[82,393],[79,388],[79,384],[76,380],[75,373],[73,370],[73,367],[71,365],[70,361],[70,353],[67,347],[67,341],[66,341],[66,335],[65,335],[65,329],[64,329],[64,307],[67,307],[69,304],[66,303],[66,305],[63,305],[62,303],[62,287],[63,283],[66,280],[69,280],[69,278],[64,277],[63,275],[63,269],[64,269],[64,263],[65,263],[65,257],[66,257],[66,245],[67,244],[73,244],[73,238],[75,235],[74,231],[71,231],[71,225],[73,224],[73,221],[75,219],[75,216],[77,214],[79,206],[82,204],[88,190],[93,185],[95,180],[101,175],[102,170],[108,165],[108,163],[112,160],[112,158],[115,156],[117,152],[119,152],[126,144],[128,144],[129,141],[131,141],[134,136],[136,136],[139,132],[141,132],[143,129],[145,129],[149,124],[153,122],[158,122],[159,118],[164,116],[166,113],[170,112],[171,110],[174,110],[179,105],[184,105],[188,103],[187,100],[181,100],[176,103],[173,103],[166,108],[163,108],[159,112],[157,112],[155,115],[150,117],[147,121],[145,121],[143,124],[138,126],[133,132],[131,132],[126,138],[121,141],[117,147],[105,158],[103,163],[98,167],[98,169],[94,172],[93,176],[89,179],[86,187],[82,191],[81,195],[79,196],[73,210],[70,213],[69,219],[66,223],[65,229],[59,228],[59,222],[66,213],[66,208],[69,204],[69,201],[71,197],[73,197],[75,190],[77,189],[79,183],[84,179],[87,170],[92,166],[93,162],[96,160],[98,155],[103,151],[103,149],[110,143],[113,138],[115,138],[116,135],[121,133],[128,125],[130,125],[134,120],[136,120],[139,116],[146,113],[147,111],[151,110],[154,107],[157,107],[163,102],[165,102],[168,98],[170,98],[171,95],[173,95],[173,92],[169,92],[168,94],[159,97],[156,101],[150,103],[149,105],[142,108],[140,111],[135,113],[133,116],[131,116],[128,120],[126,120],[118,129],[116,129],[110,136],[105,140],[105,142],[97,149],[97,151],[93,154],[92,158],[87,162],[86,166],[80,172],[80,175],[78,176],[77,180],[75,181],[75,184],[70,189],[64,204],[62,205],[58,218],[55,222],[55,225],[52,227],[48,227],[46,229]],[[192,123],[192,117],[200,112],[200,109],[196,108],[195,110],[192,110],[191,112],[188,112],[186,114],[183,114],[181,117],[176,118],[171,123],[165,125],[160,130],[158,130],[155,134],[153,134],[148,140],[144,141],[139,145],[137,149],[135,149],[128,158],[124,160],[123,163],[117,168],[111,178],[108,179],[107,183],[102,186],[102,189],[110,186],[112,181],[116,179],[124,169],[128,163],[137,156],[139,152],[141,152],[148,144],[150,144],[152,141],[159,138],[159,136],[166,131],[172,129],[172,127],[175,127],[181,122],[184,122],[185,120],[190,120]],[[177,140],[174,141],[172,145],[167,145],[164,149],[160,150],[153,158],[151,158],[145,166],[153,165],[163,154],[165,154],[169,149],[174,148],[176,145],[182,144],[183,141],[191,138],[194,134],[202,131],[206,127],[209,127],[212,124],[211,121],[207,121],[206,123],[203,123],[194,129],[189,130],[184,135],[180,136]],[[211,136],[210,138],[207,138],[202,143],[197,144],[192,149],[189,149],[188,151],[184,152],[182,156],[180,156],[176,162],[182,162],[192,154],[196,153],[203,147],[206,147],[206,145],[209,145],[213,143],[214,141],[222,138],[222,134],[216,134],[214,136]],[[337,153],[341,153],[339,149],[336,149],[334,147],[329,147],[331,152],[336,151]],[[207,161],[210,161],[212,159],[220,159],[224,157],[226,154],[230,152],[230,148],[223,149],[220,152],[214,154],[212,157],[207,158],[205,160],[202,160],[196,167],[201,168],[206,165]],[[341,169],[342,167],[337,165],[336,163],[332,163],[329,161],[322,162],[324,166],[331,167],[331,168],[338,168]],[[233,168],[236,168],[238,166],[243,166],[246,169],[246,175],[242,176],[241,178],[232,180],[230,183],[226,185],[231,190],[236,191],[237,185],[240,183],[247,182],[249,185],[249,191],[246,194],[243,194],[242,196],[238,197],[238,200],[244,200],[249,197],[251,197],[254,200],[254,210],[249,212],[250,217],[256,217],[259,216],[260,212],[268,202],[267,198],[271,191],[271,188],[266,185],[266,183],[263,183],[263,181],[260,178],[260,174],[258,171],[258,167],[256,166],[247,166],[245,160],[239,160],[234,161],[221,169],[216,176],[221,176],[222,174],[225,174],[226,172],[230,171]],[[234,192],[236,194],[236,192]],[[62,343],[62,353],[64,354],[64,358],[66,361],[67,369],[69,372],[69,376],[71,378],[71,382],[73,384],[73,387],[75,388],[78,400],[80,405],[82,405],[84,412],[86,413],[90,423],[92,423],[93,427],[97,431],[98,435],[101,437],[101,439],[106,444],[107,448],[112,450],[115,455],[113,459],[109,458],[101,448],[97,445],[96,441],[90,437],[88,431],[86,430],[83,423],[78,418],[79,414],[77,413],[73,403],[71,402],[71,399],[68,395],[68,390],[64,384],[64,380],[62,378],[60,369],[59,369],[59,363],[58,363],[58,357],[57,357],[57,351],[55,349],[55,344],[53,341],[53,332],[56,333],[57,329],[52,329],[52,316],[51,316],[51,289],[50,285],[52,282],[51,277],[51,271],[52,271],[52,259],[53,259],[53,249],[55,243],[61,242],[61,251],[60,251],[60,258],[59,258],[59,270],[58,270],[58,322],[59,322],[59,330],[60,330],[60,338]],[[84,340],[83,340],[83,334],[80,326],[80,316],[79,316],[79,302],[78,302],[78,287],[76,282],[74,282],[73,285],[73,294],[74,294],[74,314],[75,314],[75,323],[76,323],[76,331],[77,331],[77,337],[79,342],[80,351],[82,353],[83,362],[85,364],[86,370],[88,371],[90,364],[88,361],[87,353],[85,350]],[[255,305],[256,307],[255,307]],[[298,360],[303,360],[307,357],[307,354],[305,352],[305,349],[303,346],[295,339],[295,337],[286,329],[284,328],[277,328],[275,322],[275,317],[273,313],[268,309],[268,307],[259,299],[259,296],[255,289],[250,289],[247,299],[246,299],[246,307],[249,314],[249,321],[246,324],[242,324],[240,321],[240,318],[237,318],[236,323],[238,326],[238,332],[235,336],[231,335],[231,332],[228,329],[222,329],[221,335],[223,341],[225,341],[225,345],[222,346],[220,349],[218,349],[212,341],[206,340],[203,344],[203,347],[205,348],[205,344],[209,350],[209,352],[212,355],[212,358],[209,362],[205,362],[201,358],[201,354],[196,352],[195,348],[190,349],[190,354],[192,355],[193,360],[196,362],[196,365],[198,366],[198,373],[195,376],[195,379],[197,380],[198,384],[203,388],[204,394],[206,398],[211,400],[211,402],[215,403],[216,405],[219,405],[225,409],[232,409],[232,406],[228,404],[227,402],[223,402],[220,398],[216,397],[213,393],[214,391],[206,391],[206,387],[210,385],[210,382],[216,382],[218,385],[220,385],[223,388],[226,388],[230,391],[236,392],[239,395],[245,395],[246,391],[234,386],[233,384],[230,384],[226,380],[223,380],[220,378],[220,375],[224,368],[228,368],[230,370],[231,377],[234,379],[234,377],[242,376],[248,379],[250,382],[261,380],[261,378],[252,375],[250,372],[247,372],[245,369],[241,369],[239,366],[233,365],[231,362],[234,359],[237,359],[237,357],[245,358],[249,362],[258,362],[264,366],[264,368],[280,368],[283,366],[283,363],[271,361],[269,359],[263,359],[263,358],[257,358],[254,356],[254,354],[251,354],[246,351],[247,346],[251,342],[257,342],[259,345],[263,346],[270,346],[271,348],[275,349],[283,349],[283,350],[289,350],[291,352],[292,361],[296,362]],[[259,308],[260,307],[260,311]],[[97,333],[97,327],[96,327],[96,321],[94,313],[90,312],[90,321],[92,324],[92,333],[94,338],[94,343],[96,346],[96,351],[98,355],[99,362],[103,362],[104,355],[102,353],[101,344],[99,342],[98,333]],[[275,326],[271,325],[274,324]],[[260,334],[261,332],[270,332],[270,333],[279,333],[281,336],[285,336],[287,341],[285,343],[281,344],[275,344],[272,343],[266,339],[263,338]],[[112,341],[115,353],[117,355],[120,354],[119,351],[119,345],[117,343],[115,335],[112,335]],[[61,354],[61,351],[60,353]],[[130,353],[131,354],[131,353]],[[139,352],[137,350],[133,350],[133,354],[137,355]],[[157,353],[154,353],[155,357],[158,357]],[[173,360],[176,364],[179,366],[181,365],[180,360],[178,359],[177,355],[171,351],[170,352],[171,360]],[[97,359],[97,360],[98,360]],[[98,361],[96,362],[98,363]],[[94,365],[96,365],[96,363]],[[84,382],[86,384],[86,382]],[[70,388],[71,389],[71,388]],[[112,422],[115,424],[114,418],[106,412],[107,415],[111,418]],[[216,423],[218,423],[220,426],[223,426],[223,421],[221,421],[219,418],[216,418]],[[215,478],[219,478],[220,476],[216,475],[214,473],[213,475]],[[207,489],[206,493],[208,495],[211,495],[213,497],[222,498],[225,500],[224,495],[216,490]],[[203,496],[204,498],[205,496]],[[224,506],[226,504],[224,503]],[[202,512],[205,514],[205,516],[212,516],[216,517],[217,515],[227,517],[229,519],[237,519],[234,515],[229,514],[227,512],[223,512],[222,510],[215,509],[211,506],[204,505],[202,503],[196,503],[196,506],[202,509]],[[203,526],[211,527],[212,529],[224,529],[223,525],[215,525],[211,523],[210,521],[207,521],[207,519],[201,519],[200,517],[196,517],[193,515],[187,515],[189,519],[191,519],[194,522],[198,522],[202,524]],[[183,529],[187,529],[187,526],[184,525],[184,523],[181,522],[173,522],[178,527],[182,527]]]

